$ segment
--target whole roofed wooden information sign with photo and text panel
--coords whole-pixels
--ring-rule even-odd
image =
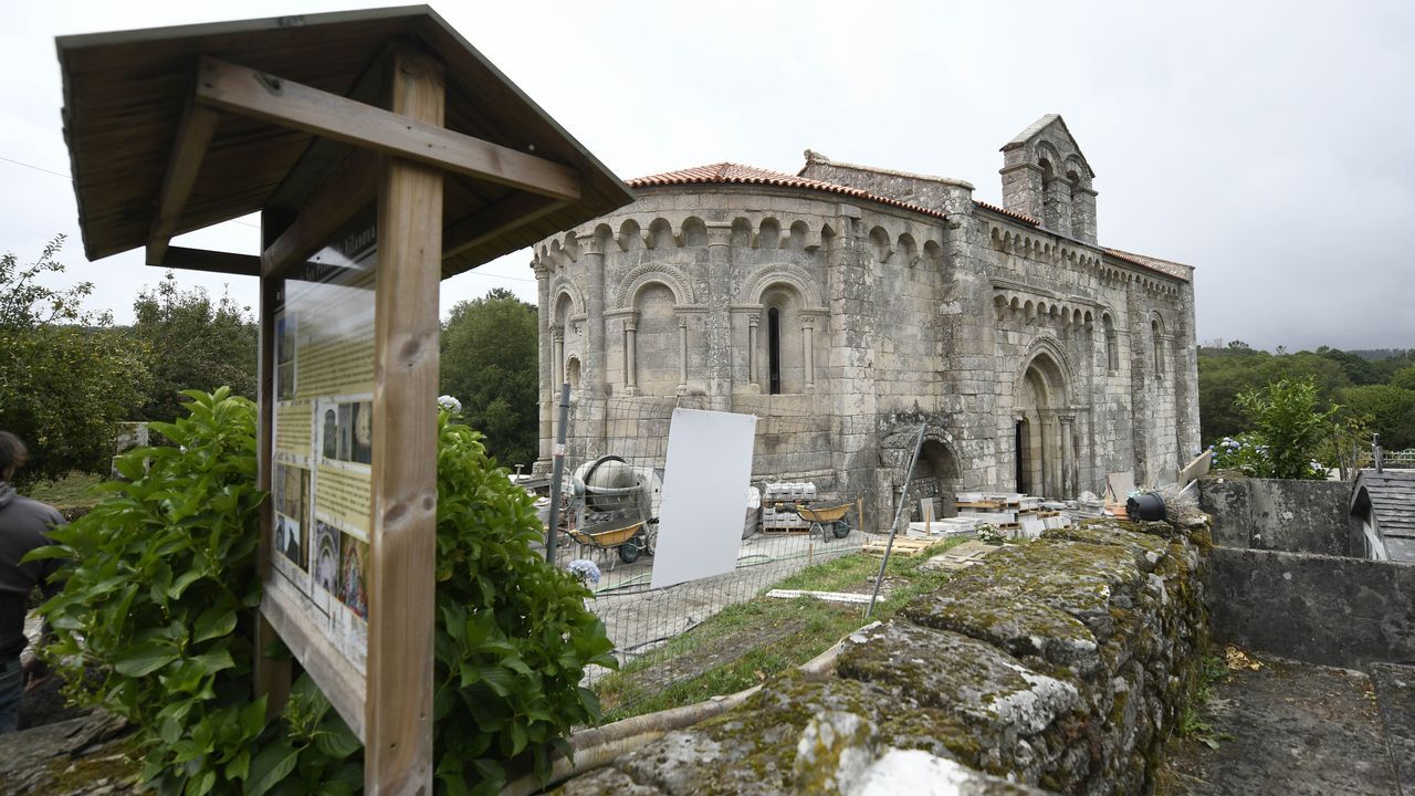
[[[57,44],[89,259],[260,280],[267,710],[297,664],[366,793],[432,793],[439,282],[633,194],[424,6]],[[258,211],[258,255],[173,245]]]

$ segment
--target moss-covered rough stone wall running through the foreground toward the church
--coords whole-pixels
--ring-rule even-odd
[[[1150,793],[1207,640],[1197,523],[1000,550],[850,636],[833,676],[771,680],[560,793],[860,793],[901,755],[959,793]]]

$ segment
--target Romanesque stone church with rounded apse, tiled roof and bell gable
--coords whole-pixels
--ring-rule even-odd
[[[809,150],[794,176],[631,180],[637,201],[535,248],[538,465],[565,380],[572,450],[623,450],[606,435],[635,402],[750,412],[754,482],[862,496],[877,525],[920,425],[916,484],[945,501],[1173,482],[1199,448],[1193,269],[1099,245],[1060,116],[1002,153],[1003,207]]]

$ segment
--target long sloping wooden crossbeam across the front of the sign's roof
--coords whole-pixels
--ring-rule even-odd
[[[197,101],[502,186],[574,201],[574,169],[283,78],[202,58]]]

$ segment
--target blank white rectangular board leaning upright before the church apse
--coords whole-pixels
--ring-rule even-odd
[[[753,415],[674,409],[652,588],[737,567],[756,432]]]

